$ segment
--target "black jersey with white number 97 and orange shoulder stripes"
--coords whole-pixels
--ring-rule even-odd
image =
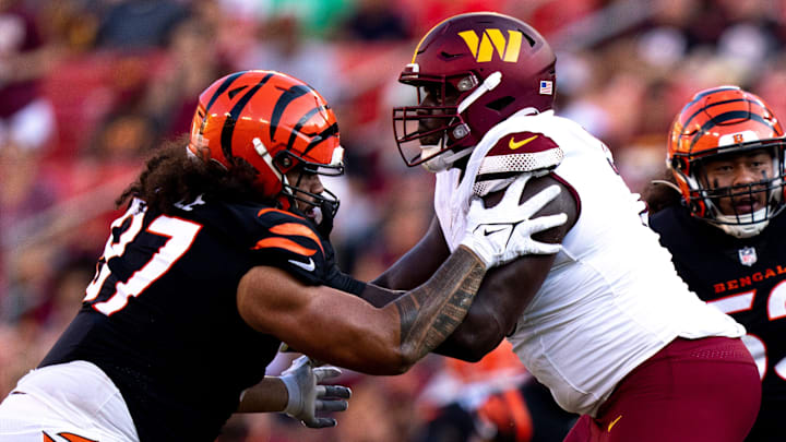
[[[362,289],[295,213],[199,198],[167,216],[133,200],[111,225],[79,314],[40,366],[98,366],[142,442],[213,441],[281,344],[237,310],[238,283],[255,265],[308,285]]]

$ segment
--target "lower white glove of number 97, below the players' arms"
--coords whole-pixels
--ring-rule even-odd
[[[301,421],[306,427],[335,427],[333,418],[317,417],[317,411],[344,411],[352,391],[343,385],[324,385],[322,381],[336,378],[341,370],[335,367],[315,367],[311,359],[301,356],[295,359],[281,374],[289,393],[284,413]]]

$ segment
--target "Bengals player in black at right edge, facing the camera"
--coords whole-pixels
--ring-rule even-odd
[[[786,416],[784,132],[736,86],[693,96],[671,127],[674,182],[653,186],[650,224],[700,298],[746,326],[762,403],[746,441],[783,441]],[[676,192],[675,192],[676,190]]]

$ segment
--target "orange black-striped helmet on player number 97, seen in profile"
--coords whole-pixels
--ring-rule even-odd
[[[247,162],[259,172],[258,190],[285,210],[301,192],[287,182],[289,170],[344,172],[333,110],[311,86],[275,71],[236,72],[210,85],[200,95],[188,150],[226,169]],[[326,193],[311,196],[337,210],[337,199]]]

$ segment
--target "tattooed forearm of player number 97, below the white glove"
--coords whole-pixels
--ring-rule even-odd
[[[450,336],[466,316],[486,274],[483,261],[464,246],[420,287],[395,301],[402,354],[416,361]]]

